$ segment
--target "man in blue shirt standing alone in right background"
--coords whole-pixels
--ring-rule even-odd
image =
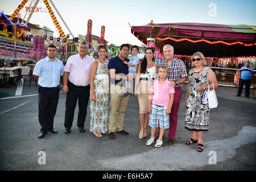
[[[238,73],[239,85],[238,85],[238,92],[237,97],[241,96],[243,85],[245,85],[245,97],[249,98],[250,96],[250,86],[251,86],[251,78],[254,76],[253,68],[250,67],[250,62],[246,61],[245,66],[240,69]]]

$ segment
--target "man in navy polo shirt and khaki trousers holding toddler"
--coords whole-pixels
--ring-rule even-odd
[[[127,60],[130,46],[122,44],[119,55],[109,60],[108,69],[110,75],[110,112],[109,112],[109,138],[115,138],[115,132],[128,135],[123,130],[123,118],[129,101],[129,96],[123,96],[126,92],[125,80],[133,80],[133,75],[128,74],[128,65],[123,63]]]

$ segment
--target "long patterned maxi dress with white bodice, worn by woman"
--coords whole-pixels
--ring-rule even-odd
[[[93,133],[108,132],[110,96],[108,63],[108,60],[105,60],[104,63],[98,61],[93,81],[96,102],[91,100],[92,93],[90,92],[90,131]]]

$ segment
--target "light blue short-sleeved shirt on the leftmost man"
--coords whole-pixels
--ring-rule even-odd
[[[39,76],[38,84],[43,87],[56,87],[60,85],[60,76],[63,76],[64,67],[62,61],[51,61],[49,57],[38,61],[33,74]]]

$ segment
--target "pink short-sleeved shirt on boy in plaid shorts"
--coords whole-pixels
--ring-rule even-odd
[[[166,79],[164,82],[159,82],[155,80],[152,82],[150,92],[154,92],[152,104],[158,106],[169,106],[170,93],[175,93],[173,87],[170,87],[170,81]]]

